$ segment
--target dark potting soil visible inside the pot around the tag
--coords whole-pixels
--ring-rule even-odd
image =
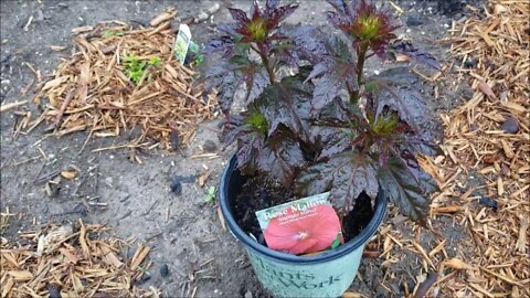
[[[234,205],[233,216],[237,225],[254,236],[257,242],[266,246],[266,242],[255,215],[256,211],[286,203],[286,200],[296,200],[292,190],[285,189],[279,182],[268,177],[253,177],[243,184]],[[342,219],[344,242],[357,236],[373,216],[370,198],[361,193],[353,210]]]

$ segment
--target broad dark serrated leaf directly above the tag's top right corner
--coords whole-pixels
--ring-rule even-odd
[[[365,155],[348,151],[305,169],[296,181],[295,191],[310,195],[329,190],[329,201],[347,214],[361,192],[375,199],[379,190],[375,173],[373,160]]]

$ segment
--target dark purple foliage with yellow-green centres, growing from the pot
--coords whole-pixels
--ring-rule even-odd
[[[328,3],[330,23],[349,43],[310,25],[280,26],[296,4],[230,9],[235,23],[220,25],[222,35],[204,47],[221,54],[206,79],[226,115],[223,141],[236,143],[242,173],[276,178],[299,196],[329,191],[342,215],[361,193],[375,200],[382,191],[425,225],[436,183],[417,156],[442,153],[442,130],[426,117],[421,82],[407,68],[373,77],[363,68],[386,51],[441,66],[411,43],[392,42],[389,12],[365,0]],[[243,111],[232,113],[234,100]]]

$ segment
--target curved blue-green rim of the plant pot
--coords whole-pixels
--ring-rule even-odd
[[[354,238],[350,240],[346,244],[330,251],[326,251],[320,253],[316,256],[297,256],[287,253],[280,253],[277,251],[273,251],[255,240],[251,238],[236,223],[235,219],[232,216],[232,212],[229,206],[229,199],[227,199],[227,189],[230,185],[230,180],[233,177],[233,172],[236,170],[236,156],[234,155],[230,162],[223,170],[223,174],[221,175],[221,185],[219,188],[219,202],[221,205],[221,213],[223,214],[224,221],[229,226],[232,234],[241,241],[246,247],[252,248],[256,253],[264,255],[269,258],[274,258],[280,262],[287,263],[298,263],[298,264],[315,264],[315,263],[322,263],[327,260],[332,260],[336,258],[340,258],[357,248],[363,246],[370,237],[375,234],[377,230],[381,225],[383,221],[384,214],[386,212],[386,198],[383,193],[383,190],[380,188],[378,192],[378,196],[375,199],[375,211],[373,213],[370,223],[359,233]]]

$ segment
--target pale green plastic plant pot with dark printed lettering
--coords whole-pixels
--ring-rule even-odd
[[[232,157],[221,177],[219,201],[226,225],[245,247],[262,285],[276,297],[338,297],[353,281],[365,243],[380,226],[386,198],[379,190],[375,211],[364,230],[346,244],[316,256],[296,256],[273,251],[246,235],[232,215],[234,201],[245,183]]]

